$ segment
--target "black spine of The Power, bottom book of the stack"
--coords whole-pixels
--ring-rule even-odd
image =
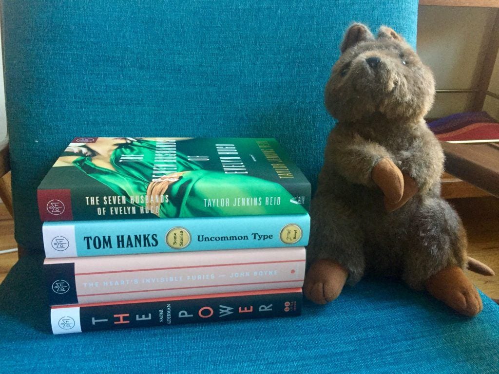
[[[291,317],[301,314],[300,289],[193,299],[52,307],[54,334],[188,323]]]

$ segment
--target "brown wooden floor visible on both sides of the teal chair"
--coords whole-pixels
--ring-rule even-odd
[[[450,200],[460,213],[468,231],[468,254],[490,267],[498,275],[484,277],[468,272],[473,282],[493,299],[499,299],[499,199],[473,197]],[[0,204],[0,250],[16,247],[13,221],[5,206]],[[17,253],[0,254],[0,283],[17,261]]]

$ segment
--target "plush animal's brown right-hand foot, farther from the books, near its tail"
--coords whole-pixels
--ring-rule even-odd
[[[457,266],[442,269],[430,277],[426,288],[436,299],[465,316],[476,316],[484,308],[477,289]]]

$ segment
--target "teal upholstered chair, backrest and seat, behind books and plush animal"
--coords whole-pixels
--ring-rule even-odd
[[[275,137],[313,185],[322,91],[351,21],[413,45],[417,0],[3,0],[15,237],[2,373],[493,373],[499,308],[475,319],[364,280],[293,319],[52,336],[35,189],[74,136]]]

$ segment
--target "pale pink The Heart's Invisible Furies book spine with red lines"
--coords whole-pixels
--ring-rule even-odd
[[[299,288],[305,248],[46,258],[50,305]]]

